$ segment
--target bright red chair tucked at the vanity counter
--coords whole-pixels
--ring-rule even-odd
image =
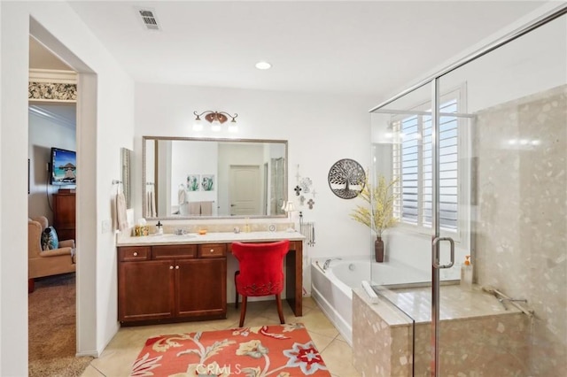
[[[239,327],[244,326],[247,298],[252,296],[275,295],[280,323],[285,323],[281,293],[284,283],[283,257],[289,249],[289,240],[268,243],[232,243],[232,254],[239,263],[239,271],[234,275],[237,307],[238,295],[242,295]]]

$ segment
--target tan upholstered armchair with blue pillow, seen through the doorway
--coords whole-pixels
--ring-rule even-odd
[[[42,250],[42,232],[48,226],[44,216],[27,219],[27,277],[32,287],[35,278],[75,271],[74,240],[59,241],[58,249]]]

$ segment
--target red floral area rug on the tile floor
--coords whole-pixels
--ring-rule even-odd
[[[132,376],[330,376],[300,324],[240,327],[148,339]]]

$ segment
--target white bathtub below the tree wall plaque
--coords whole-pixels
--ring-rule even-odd
[[[311,296],[351,346],[353,288],[361,288],[362,281],[396,286],[431,280],[431,273],[411,266],[396,262],[376,263],[368,258],[333,259],[323,273],[322,266],[327,259],[313,258],[311,261]]]

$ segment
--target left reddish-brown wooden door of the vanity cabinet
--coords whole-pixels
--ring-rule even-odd
[[[174,261],[120,262],[118,297],[120,322],[172,318],[175,311]]]

